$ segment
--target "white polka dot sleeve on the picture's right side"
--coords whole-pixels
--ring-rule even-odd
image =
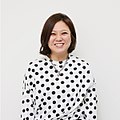
[[[82,80],[81,86],[84,96],[82,102],[80,102],[78,108],[76,109],[74,117],[79,118],[78,120],[97,120],[98,99],[96,92],[96,81],[88,63],[86,64],[86,69],[83,70],[83,73],[85,77]]]

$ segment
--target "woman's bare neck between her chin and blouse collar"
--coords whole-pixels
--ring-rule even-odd
[[[68,53],[66,54],[51,54],[50,59],[55,61],[63,61],[68,57]]]

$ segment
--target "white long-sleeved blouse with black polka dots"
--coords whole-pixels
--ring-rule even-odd
[[[89,64],[69,55],[29,63],[22,87],[22,120],[97,120],[95,80]]]

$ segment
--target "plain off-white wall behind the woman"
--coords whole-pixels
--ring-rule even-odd
[[[99,99],[98,120],[119,120],[119,0],[1,1],[1,120],[20,119],[23,74],[28,62],[39,57],[44,22],[57,12],[72,19],[77,32],[74,54],[92,66]]]

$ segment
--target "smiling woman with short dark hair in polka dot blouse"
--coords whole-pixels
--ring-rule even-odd
[[[41,34],[40,58],[23,81],[22,120],[96,120],[95,80],[89,64],[74,57],[76,32],[62,13],[50,16]]]

